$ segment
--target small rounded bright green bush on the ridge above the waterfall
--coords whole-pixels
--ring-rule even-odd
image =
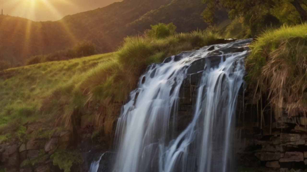
[[[176,26],[173,23],[159,23],[151,25],[151,30],[147,31],[147,35],[153,38],[161,39],[173,35],[176,31]]]

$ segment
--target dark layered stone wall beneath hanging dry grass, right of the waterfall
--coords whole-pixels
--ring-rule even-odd
[[[305,118],[288,118],[284,113],[276,119],[274,111],[271,118],[271,110],[266,108],[261,127],[256,105],[246,109],[244,122],[242,113],[240,119],[237,114],[238,166],[264,168],[261,171],[307,170]]]

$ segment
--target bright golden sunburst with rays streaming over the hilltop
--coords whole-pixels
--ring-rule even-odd
[[[26,23],[24,22],[13,22],[18,20],[12,20],[12,21],[5,21],[3,20],[2,23],[0,23],[0,26],[2,25],[14,25],[14,34],[12,35],[11,39],[13,39],[13,42],[22,41],[23,42],[23,56],[28,56],[31,52],[31,44],[33,43],[33,38],[35,40],[38,40],[38,42],[41,42],[41,46],[45,46],[43,40],[45,39],[44,34],[40,34],[42,32],[36,31],[35,34],[33,34],[33,24],[36,25],[35,29],[37,30],[40,25],[40,22],[33,22],[37,21],[38,17],[41,17],[40,15],[44,13],[45,15],[52,16],[52,18],[58,18],[60,19],[62,15],[57,11],[57,8],[55,7],[58,4],[65,4],[66,6],[74,6],[75,4],[72,4],[70,0],[9,0],[6,1],[3,6],[10,7],[13,9],[10,15],[18,16],[18,17],[25,17],[30,20],[27,20]],[[31,21],[33,20],[33,21]],[[56,21],[61,24],[61,28],[64,32],[63,35],[67,35],[70,38],[70,41],[72,43],[76,42],[75,36],[70,31],[69,27],[66,23],[63,21]],[[34,30],[35,30],[34,29]],[[24,40],[21,37],[14,38],[15,32],[23,31],[22,34],[24,36]],[[21,40],[22,39],[22,40]],[[47,42],[48,44],[48,42]],[[46,45],[48,46],[48,45]]]

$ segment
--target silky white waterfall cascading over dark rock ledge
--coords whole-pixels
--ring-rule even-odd
[[[203,47],[151,65],[122,107],[113,171],[231,171],[233,117],[248,54],[242,47],[249,43]],[[180,89],[199,66],[193,117],[178,131]]]

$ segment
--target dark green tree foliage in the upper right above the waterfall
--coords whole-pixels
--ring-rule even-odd
[[[306,0],[202,0],[206,8],[204,21],[213,25],[214,14],[220,9],[228,11],[228,17],[242,24],[241,30],[255,36],[266,27],[278,28],[282,24],[299,24],[307,21]]]

